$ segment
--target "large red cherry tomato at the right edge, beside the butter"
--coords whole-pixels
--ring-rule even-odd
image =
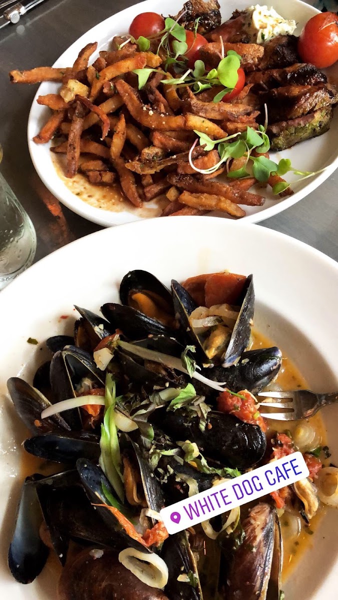
[[[338,16],[320,13],[312,17],[298,39],[298,52],[303,62],[318,68],[338,61]]]

